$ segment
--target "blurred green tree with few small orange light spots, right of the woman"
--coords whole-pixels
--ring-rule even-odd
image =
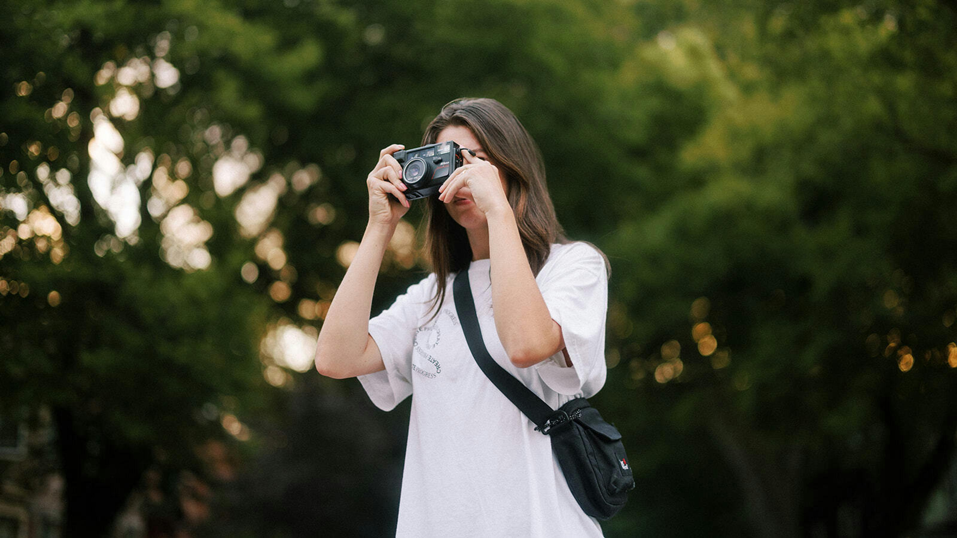
[[[701,114],[607,243],[650,472],[711,473],[668,449],[703,434],[756,535],[920,527],[957,430],[953,7],[702,11],[622,70]]]

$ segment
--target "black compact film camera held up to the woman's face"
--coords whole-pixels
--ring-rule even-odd
[[[427,198],[438,193],[452,172],[462,166],[462,154],[455,142],[403,149],[392,154],[402,165],[402,183],[407,200]]]

